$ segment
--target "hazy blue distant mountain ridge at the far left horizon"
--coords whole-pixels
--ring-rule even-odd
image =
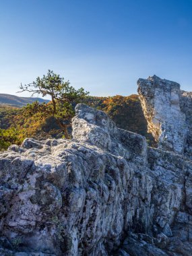
[[[50,100],[44,100],[43,98],[19,97],[11,94],[0,94],[0,104],[7,104],[9,106],[22,107],[36,100],[40,103],[42,102],[47,103],[50,101]]]

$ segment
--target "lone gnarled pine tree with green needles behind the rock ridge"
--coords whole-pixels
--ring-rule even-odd
[[[82,102],[88,95],[83,88],[75,90],[73,86],[70,86],[69,81],[64,82],[64,78],[60,77],[49,70],[47,75],[43,75],[42,78],[37,77],[36,82],[31,84],[21,85],[21,92],[31,92],[34,94],[41,94],[44,96],[51,96],[51,102],[48,104],[34,102],[28,104],[24,108],[25,117],[39,117],[50,118],[54,117],[54,120],[63,131],[65,137],[69,139],[68,127],[71,126],[71,118],[74,116],[73,106],[78,102]]]

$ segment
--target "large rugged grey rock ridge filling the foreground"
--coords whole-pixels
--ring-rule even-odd
[[[0,154],[0,255],[191,255],[192,163],[75,110],[72,140]]]

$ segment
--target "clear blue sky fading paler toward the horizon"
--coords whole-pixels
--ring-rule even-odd
[[[0,93],[48,69],[94,96],[154,74],[192,91],[192,0],[1,0]]]

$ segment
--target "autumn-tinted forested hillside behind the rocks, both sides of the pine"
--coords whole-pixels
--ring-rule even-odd
[[[147,122],[137,95],[87,96],[84,102],[89,106],[104,110],[115,121],[117,127],[145,136],[150,146],[156,147],[152,135],[148,133]],[[75,104],[76,102],[73,102],[67,109],[67,106],[58,100],[56,114],[54,114],[53,102],[48,104],[33,102],[23,108],[0,107],[0,150],[6,150],[12,143],[19,145],[26,137],[35,139],[65,137],[57,120],[70,124]],[[68,129],[71,134],[70,127]]]

